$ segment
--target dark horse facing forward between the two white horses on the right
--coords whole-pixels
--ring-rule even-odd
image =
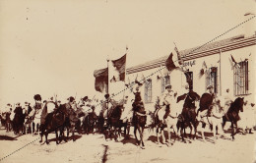
[[[185,101],[184,101],[182,112],[178,117],[177,130],[181,128],[180,135],[182,137],[182,140],[185,141],[184,135],[186,135],[185,129],[187,127],[190,128],[190,137],[192,137],[193,139],[196,137],[198,121],[196,119],[195,102],[199,101],[200,96],[196,92],[190,90],[188,93],[185,93],[177,97],[177,102],[183,99],[185,99]],[[192,136],[193,128],[195,132],[194,136]]]

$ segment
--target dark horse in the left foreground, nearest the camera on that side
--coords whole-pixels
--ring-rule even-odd
[[[45,117],[45,122],[41,125],[41,133],[40,133],[40,142],[42,142],[42,136],[45,136],[45,142],[48,144],[48,134],[51,132],[55,132],[56,136],[56,144],[60,143],[60,137],[58,136],[58,131],[60,131],[60,136],[63,134],[65,123],[67,122],[67,109],[65,104],[60,105],[58,109],[54,112],[48,113]],[[66,141],[66,139],[65,139]]]

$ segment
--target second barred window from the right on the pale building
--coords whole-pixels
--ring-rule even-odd
[[[212,67],[206,72],[206,86],[213,85],[214,86],[214,92],[218,93],[218,71],[217,67]]]

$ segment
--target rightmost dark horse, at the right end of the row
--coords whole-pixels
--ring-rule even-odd
[[[232,140],[234,140],[234,136],[237,134],[237,121],[240,120],[239,117],[239,111],[243,112],[243,103],[244,98],[243,97],[237,97],[228,108],[227,112],[224,114],[223,117],[223,128],[225,125],[225,122],[231,123],[231,136]],[[234,126],[235,126],[235,132],[234,132]]]

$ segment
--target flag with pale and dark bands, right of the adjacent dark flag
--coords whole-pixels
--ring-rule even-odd
[[[112,60],[114,72],[110,81],[125,81],[125,65],[126,65],[126,54],[117,60]]]

